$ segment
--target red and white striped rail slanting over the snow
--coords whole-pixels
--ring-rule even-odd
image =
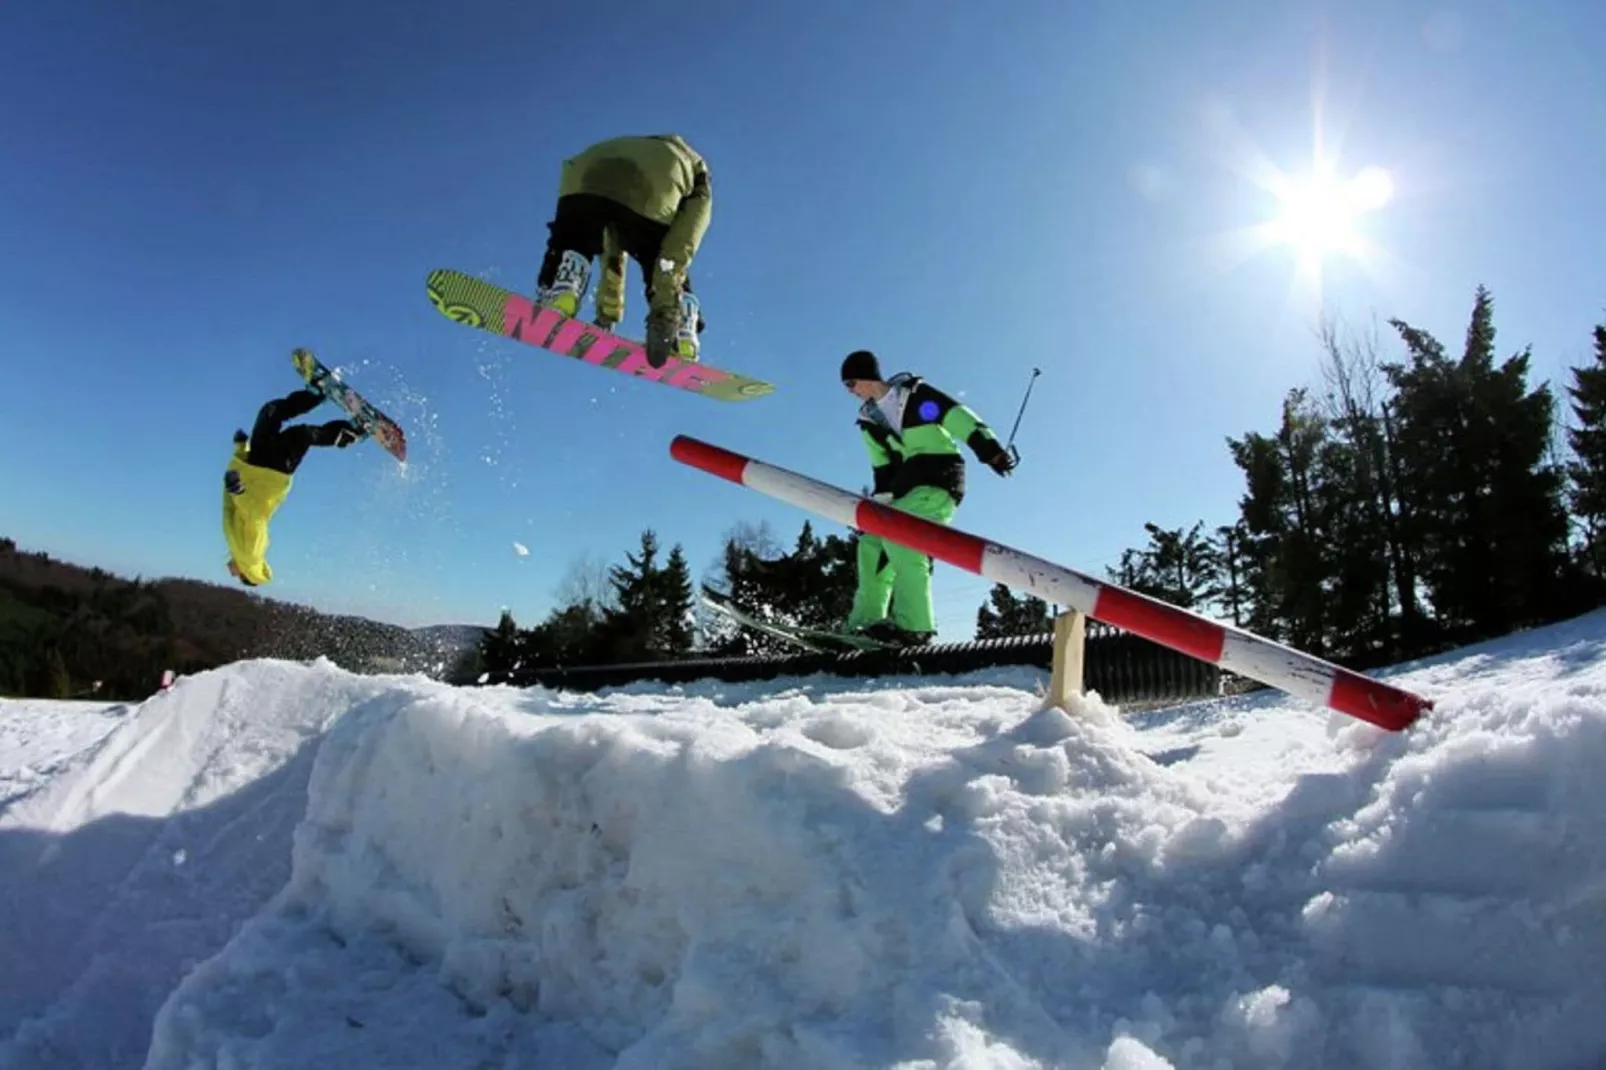
[[[1094,620],[1124,628],[1182,654],[1286,691],[1363,721],[1399,731],[1433,707],[1428,699],[1362,676],[1282,643],[1177,609],[1147,594],[1095,580],[1042,557],[933,524],[798,472],[716,445],[678,435],[670,456],[683,464],[742,484],[837,524],[880,535],[938,561],[1070,606]]]

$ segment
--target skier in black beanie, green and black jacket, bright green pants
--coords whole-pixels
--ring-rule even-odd
[[[883,379],[875,353],[848,353],[842,382],[862,402],[858,423],[870,453],[875,501],[938,524],[952,521],[965,496],[960,443],[999,476],[1015,471],[1015,455],[980,416],[907,371]],[[931,641],[936,623],[928,556],[861,533],[858,570],[848,631],[899,646]]]

